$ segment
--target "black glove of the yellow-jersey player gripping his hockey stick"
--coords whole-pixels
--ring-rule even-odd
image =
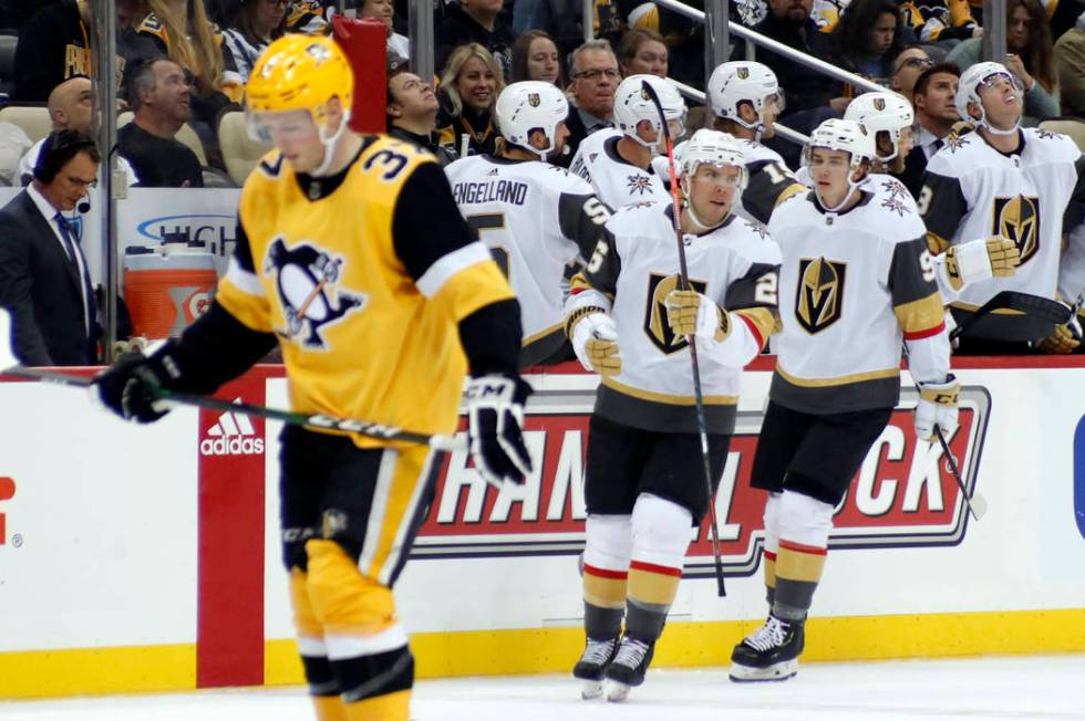
[[[121,356],[94,378],[94,388],[105,406],[125,420],[149,424],[165,416],[169,408],[157,396],[180,377],[169,355],[169,344],[152,356],[132,353]]]

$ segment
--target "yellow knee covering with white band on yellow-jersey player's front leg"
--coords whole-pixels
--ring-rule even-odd
[[[313,615],[324,630],[328,658],[369,656],[406,646],[406,631],[395,620],[390,588],[362,576],[334,541],[311,540],[306,553],[306,586]]]

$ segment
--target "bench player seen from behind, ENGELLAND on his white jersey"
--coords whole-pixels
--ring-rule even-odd
[[[571,357],[562,353],[566,268],[593,251],[610,218],[587,182],[547,161],[561,155],[568,112],[552,83],[513,83],[496,105],[504,148],[445,167],[459,211],[519,299],[521,367]]]

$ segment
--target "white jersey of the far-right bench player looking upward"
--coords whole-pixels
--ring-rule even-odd
[[[1021,251],[1014,275],[965,286],[952,304],[961,311],[1006,290],[1055,297],[1062,237],[1076,226],[1085,195],[1081,151],[1065,135],[1020,133],[1021,147],[1012,155],[979,133],[950,136],[927,165],[918,205],[931,252],[991,236],[1009,238]]]

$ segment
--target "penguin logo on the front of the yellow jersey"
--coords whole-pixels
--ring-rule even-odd
[[[337,288],[343,259],[310,242],[287,248],[281,237],[268,247],[266,273],[276,272],[276,291],[286,320],[286,328],[276,333],[300,343],[310,351],[327,351],[322,330],[365,306],[364,293]]]

